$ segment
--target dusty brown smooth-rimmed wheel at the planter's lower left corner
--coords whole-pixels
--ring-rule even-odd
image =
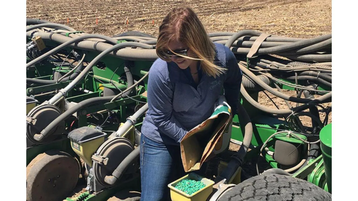
[[[58,201],[76,187],[79,163],[68,153],[50,150],[26,167],[26,201]]]

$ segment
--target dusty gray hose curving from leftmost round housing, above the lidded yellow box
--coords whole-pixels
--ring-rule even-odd
[[[129,84],[134,83],[134,81],[133,81],[133,76],[132,76],[132,74],[131,74],[131,72],[129,70],[126,71],[126,76],[127,76],[127,80],[128,80],[127,81],[127,83],[128,83],[127,88],[130,88],[133,84],[132,85],[129,85]],[[127,92],[125,92],[124,94],[120,95],[118,98],[125,98],[131,92],[132,92],[132,89],[127,91]],[[83,101],[79,102],[75,106],[69,108],[66,112],[62,113],[56,119],[54,119],[54,121],[52,121],[46,128],[44,128],[41,131],[40,135],[46,137],[48,135],[48,133],[53,128],[55,128],[59,123],[61,123],[62,121],[64,121],[68,117],[70,117],[73,113],[78,112],[80,109],[82,109],[82,108],[84,108],[86,106],[96,104],[96,103],[110,101],[114,97],[116,97],[116,95],[107,96],[107,97],[94,97],[94,98],[89,98],[89,99],[86,99],[86,100],[83,100]],[[37,134],[35,134],[35,135],[37,135]]]

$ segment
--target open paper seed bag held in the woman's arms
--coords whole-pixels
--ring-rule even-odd
[[[220,96],[215,102],[211,117],[185,134],[180,142],[185,172],[200,169],[223,133],[228,131],[231,118],[231,107],[226,103],[225,97]]]

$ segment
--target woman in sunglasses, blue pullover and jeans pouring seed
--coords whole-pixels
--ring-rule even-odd
[[[211,116],[224,89],[236,113],[242,72],[231,50],[214,44],[190,8],[175,8],[159,27],[159,56],[149,72],[142,125],[141,200],[170,200],[168,184],[184,176],[180,140]]]

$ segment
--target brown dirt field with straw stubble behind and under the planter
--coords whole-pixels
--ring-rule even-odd
[[[332,32],[332,0],[27,0],[26,17],[66,24],[86,33],[112,36],[141,31],[158,36],[165,14],[181,5],[192,7],[208,32],[249,29],[295,38]],[[296,96],[294,91],[284,93]],[[288,108],[283,99],[267,94],[280,109]],[[259,103],[276,108],[263,92],[259,93]],[[295,106],[292,102],[291,105]],[[324,117],[320,112],[320,119]],[[305,126],[311,125],[309,117],[300,119]],[[332,112],[328,122],[332,122]],[[78,195],[76,192],[73,195]]]

